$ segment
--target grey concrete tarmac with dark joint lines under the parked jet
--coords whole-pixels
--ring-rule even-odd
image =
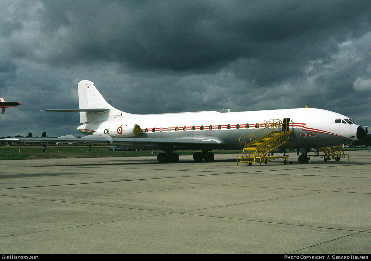
[[[369,254],[371,152],[347,153],[3,160],[0,252]]]

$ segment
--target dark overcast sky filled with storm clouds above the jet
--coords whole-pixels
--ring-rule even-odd
[[[88,79],[134,114],[302,108],[371,125],[371,1],[0,1],[0,137],[75,135]]]

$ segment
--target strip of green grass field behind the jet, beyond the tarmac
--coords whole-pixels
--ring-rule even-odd
[[[68,146],[68,145],[47,145],[46,152],[42,152],[42,145],[12,145],[0,146],[0,160],[23,160],[23,159],[53,159],[53,158],[95,158],[95,157],[135,157],[135,156],[157,156],[161,151],[109,151],[109,146],[92,146],[91,151],[88,146]],[[365,149],[344,149],[347,150],[367,150]],[[197,150],[199,151],[199,150]],[[176,151],[181,155],[193,155],[196,151],[180,150]],[[242,150],[213,150],[214,154],[237,154],[240,156]]]

